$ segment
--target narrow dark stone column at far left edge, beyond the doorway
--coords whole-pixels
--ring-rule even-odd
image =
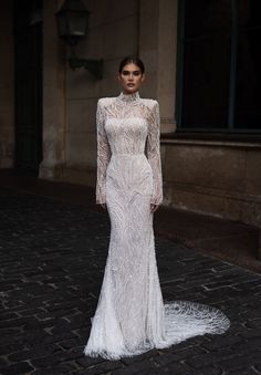
[[[0,168],[14,166],[14,54],[12,1],[0,12]]]

